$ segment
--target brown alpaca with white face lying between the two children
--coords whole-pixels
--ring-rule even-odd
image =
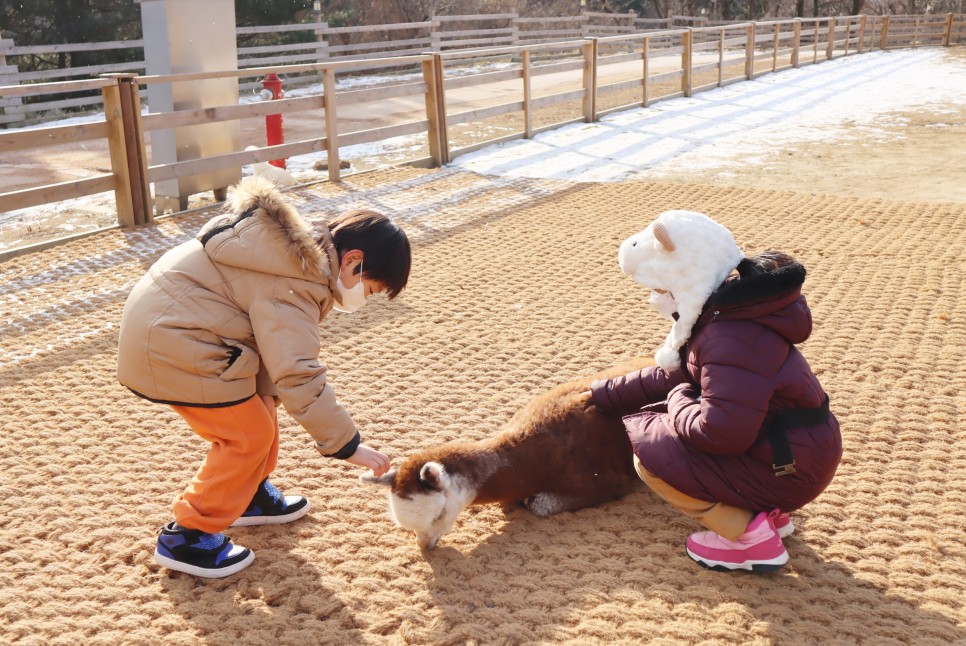
[[[651,365],[634,360],[594,378],[566,383],[532,399],[494,437],[452,442],[410,456],[370,484],[390,487],[401,527],[433,549],[467,505],[522,502],[550,516],[614,500],[639,482],[620,417],[590,402],[590,383]]]

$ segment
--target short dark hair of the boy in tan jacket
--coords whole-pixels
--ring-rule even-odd
[[[330,220],[329,231],[339,260],[346,251],[362,251],[363,275],[385,285],[389,298],[398,296],[409,282],[409,238],[386,216],[368,209],[350,211]]]

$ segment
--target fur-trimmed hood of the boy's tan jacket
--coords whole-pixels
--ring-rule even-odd
[[[215,261],[290,278],[315,277],[331,284],[338,274],[338,254],[325,225],[313,227],[276,186],[247,177],[232,187],[228,213],[198,233]],[[320,245],[317,240],[327,240]]]

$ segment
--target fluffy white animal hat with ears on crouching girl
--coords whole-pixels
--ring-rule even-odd
[[[621,243],[621,271],[651,289],[671,292],[678,319],[654,359],[665,370],[681,365],[678,351],[691,336],[711,293],[744,258],[727,228],[695,211],[665,211]]]

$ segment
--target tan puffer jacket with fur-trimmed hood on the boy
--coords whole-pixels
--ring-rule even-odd
[[[322,454],[354,450],[355,425],[319,362],[319,323],[341,302],[328,229],[313,228],[257,177],[232,190],[229,206],[135,285],[121,318],[118,380],[166,404],[277,396]]]

